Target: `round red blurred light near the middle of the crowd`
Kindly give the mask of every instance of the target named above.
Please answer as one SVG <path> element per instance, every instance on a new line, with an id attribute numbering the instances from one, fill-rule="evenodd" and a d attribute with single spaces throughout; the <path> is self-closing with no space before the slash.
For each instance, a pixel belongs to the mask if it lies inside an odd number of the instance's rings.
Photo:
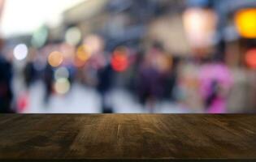
<path id="1" fill-rule="evenodd" d="M 128 69 L 127 49 L 120 47 L 115 49 L 111 59 L 111 66 L 115 71 L 124 72 Z"/>

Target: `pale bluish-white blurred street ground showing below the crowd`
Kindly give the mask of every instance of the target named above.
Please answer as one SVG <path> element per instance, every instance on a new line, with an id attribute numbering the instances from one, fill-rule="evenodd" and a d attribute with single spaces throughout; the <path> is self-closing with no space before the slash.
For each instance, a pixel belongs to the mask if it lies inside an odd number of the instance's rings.
<path id="1" fill-rule="evenodd" d="M 67 96 L 53 96 L 49 104 L 42 102 L 44 95 L 43 83 L 35 83 L 29 91 L 28 108 L 22 113 L 101 113 L 100 96 L 93 88 L 75 83 Z M 115 113 L 149 113 L 137 102 L 132 94 L 124 89 L 113 90 L 110 102 Z M 190 113 L 189 109 L 180 108 L 171 102 L 158 104 L 154 113 Z M 199 112 L 198 112 L 199 113 Z"/>

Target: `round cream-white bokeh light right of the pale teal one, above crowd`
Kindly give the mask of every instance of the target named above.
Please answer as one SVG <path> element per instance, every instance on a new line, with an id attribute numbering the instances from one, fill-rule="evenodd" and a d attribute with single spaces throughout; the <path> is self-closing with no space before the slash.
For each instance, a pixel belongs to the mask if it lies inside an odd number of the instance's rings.
<path id="1" fill-rule="evenodd" d="M 79 28 L 72 27 L 67 29 L 65 40 L 69 45 L 78 45 L 82 38 Z"/>

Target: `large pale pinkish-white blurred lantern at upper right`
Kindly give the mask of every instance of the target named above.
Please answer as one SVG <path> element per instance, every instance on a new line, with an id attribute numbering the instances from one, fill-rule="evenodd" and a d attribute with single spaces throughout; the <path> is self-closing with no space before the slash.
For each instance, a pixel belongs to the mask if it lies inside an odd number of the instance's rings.
<path id="1" fill-rule="evenodd" d="M 183 15 L 184 30 L 192 47 L 202 48 L 212 44 L 217 26 L 215 11 L 189 8 Z"/>

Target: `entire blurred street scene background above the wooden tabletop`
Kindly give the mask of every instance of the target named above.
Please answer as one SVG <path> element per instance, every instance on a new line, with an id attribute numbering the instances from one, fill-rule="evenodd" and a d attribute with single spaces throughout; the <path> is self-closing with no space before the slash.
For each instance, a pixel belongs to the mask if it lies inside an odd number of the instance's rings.
<path id="1" fill-rule="evenodd" d="M 256 113 L 256 0 L 0 0 L 1 113 Z"/>

